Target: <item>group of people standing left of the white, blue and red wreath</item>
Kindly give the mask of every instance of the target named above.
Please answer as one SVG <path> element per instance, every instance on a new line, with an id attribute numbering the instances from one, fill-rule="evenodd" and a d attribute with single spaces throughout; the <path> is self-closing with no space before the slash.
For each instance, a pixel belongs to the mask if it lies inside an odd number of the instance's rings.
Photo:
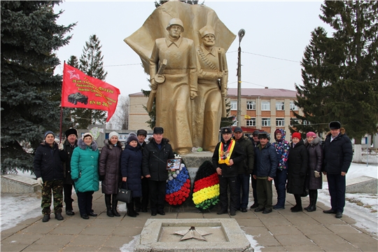
<path id="1" fill-rule="evenodd" d="M 151 214 L 164 215 L 167 170 L 166 164 L 161 163 L 174 158 L 174 154 L 169 140 L 164 139 L 162 134 L 162 127 L 155 127 L 153 138 L 146 144 L 146 130 L 138 130 L 137 134 L 132 132 L 123 150 L 119 134 L 111 132 L 100 153 L 89 132 L 78 139 L 78 132 L 71 128 L 65 132 L 66 140 L 60 144 L 55 141 L 53 132 L 45 132 L 44 141 L 36 149 L 34 157 L 34 172 L 42 187 L 42 221 L 50 220 L 52 197 L 58 221 L 64 219 L 63 195 L 66 215 L 75 214 L 71 197 L 73 188 L 78 197 L 81 218 L 97 216 L 92 209 L 92 195 L 99 190 L 99 181 L 102 181 L 107 216 L 120 216 L 117 210 L 119 188 L 132 191 L 132 200 L 127 203 L 127 216 L 136 217 L 139 211 L 147 212 L 149 199 Z"/>

